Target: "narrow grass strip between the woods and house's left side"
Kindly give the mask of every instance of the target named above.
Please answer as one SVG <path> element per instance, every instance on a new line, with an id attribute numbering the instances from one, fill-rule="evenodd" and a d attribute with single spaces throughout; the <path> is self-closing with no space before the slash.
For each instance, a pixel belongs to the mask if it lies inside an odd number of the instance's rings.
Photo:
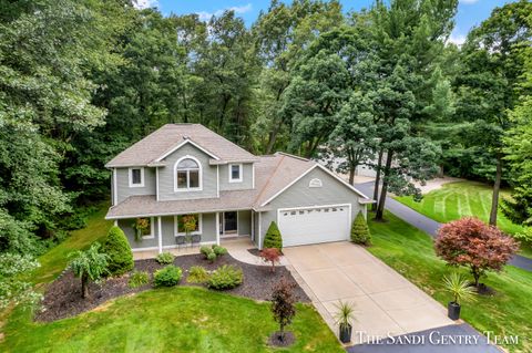
<path id="1" fill-rule="evenodd" d="M 88 248 L 93 241 L 105 237 L 113 225 L 104 219 L 108 209 L 109 203 L 98 205 L 98 210 L 89 216 L 85 228 L 72 231 L 63 242 L 42 255 L 39 258 L 41 267 L 30 274 L 30 281 L 35 284 L 52 281 L 66 267 L 70 252 Z"/>

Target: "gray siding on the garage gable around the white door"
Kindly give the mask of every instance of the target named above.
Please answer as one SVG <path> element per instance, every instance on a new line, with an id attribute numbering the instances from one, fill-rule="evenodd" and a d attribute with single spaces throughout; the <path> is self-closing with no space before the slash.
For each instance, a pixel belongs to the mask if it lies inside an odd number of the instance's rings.
<path id="1" fill-rule="evenodd" d="M 314 178 L 319 178 L 323 186 L 308 187 L 308 183 Z M 267 205 L 272 210 L 262 212 L 262 239 L 264 240 L 269 224 L 272 221 L 277 222 L 277 210 L 279 208 L 350 204 L 352 220 L 359 211 L 362 211 L 366 216 L 366 206 L 360 205 L 358 199 L 359 196 L 355 191 L 349 190 L 347 186 L 324 170 L 315 168 Z"/>

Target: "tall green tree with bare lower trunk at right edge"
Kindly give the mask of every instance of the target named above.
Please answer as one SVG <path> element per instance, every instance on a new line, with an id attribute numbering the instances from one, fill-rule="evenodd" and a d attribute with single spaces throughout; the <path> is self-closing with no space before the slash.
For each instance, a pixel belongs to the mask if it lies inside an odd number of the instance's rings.
<path id="1" fill-rule="evenodd" d="M 530 45 L 532 28 L 530 1 L 518 1 L 497 8 L 491 17 L 473 29 L 462 49 L 463 72 L 458 76 L 457 114 L 477 122 L 482 129 L 479 145 L 490 152 L 488 165 L 493 180 L 490 225 L 497 225 L 499 191 L 503 177 L 504 150 L 502 137 L 511 127 L 509 111 L 514 108 L 523 80 L 522 49 Z M 481 136 L 481 135 L 479 135 Z"/>

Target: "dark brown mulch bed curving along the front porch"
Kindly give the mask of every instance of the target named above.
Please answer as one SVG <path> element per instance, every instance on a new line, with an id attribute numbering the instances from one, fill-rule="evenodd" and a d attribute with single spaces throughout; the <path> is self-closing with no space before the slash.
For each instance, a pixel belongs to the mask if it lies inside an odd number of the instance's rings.
<path id="1" fill-rule="evenodd" d="M 201 285 L 197 283 L 187 283 L 188 269 L 192 266 L 202 266 L 208 271 L 215 270 L 222 264 L 235 264 L 242 268 L 244 272 L 244 282 L 235 289 L 224 291 L 225 293 L 246 297 L 259 301 L 269 300 L 272 289 L 282 277 L 295 284 L 294 295 L 297 301 L 310 302 L 307 294 L 297 284 L 290 272 L 285 267 L 276 267 L 275 273 L 270 272 L 270 267 L 254 266 L 235 260 L 229 255 L 216 259 L 214 263 L 208 262 L 203 255 L 187 255 L 176 257 L 174 264 L 183 269 L 183 278 L 178 285 Z M 150 274 L 163 268 L 155 259 L 135 261 L 135 270 L 147 271 Z M 92 310 L 105 301 L 152 289 L 151 284 L 132 289 L 127 285 L 129 273 L 110 278 L 100 284 L 91 283 L 89 287 L 89 298 L 81 298 L 81 281 L 74 278 L 72 271 L 65 271 L 60 278 L 50 283 L 44 293 L 42 309 L 37 313 L 35 320 L 50 322 L 64 319 Z M 151 276 L 152 277 L 152 276 Z"/>

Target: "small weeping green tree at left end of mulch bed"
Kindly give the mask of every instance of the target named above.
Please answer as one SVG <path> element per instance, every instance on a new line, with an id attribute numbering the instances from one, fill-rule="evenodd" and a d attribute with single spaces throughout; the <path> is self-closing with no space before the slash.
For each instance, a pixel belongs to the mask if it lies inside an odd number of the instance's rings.
<path id="1" fill-rule="evenodd" d="M 100 243 L 93 243 L 89 250 L 78 250 L 70 255 L 70 268 L 81 278 L 81 298 L 89 297 L 89 281 L 98 281 L 106 272 L 108 256 L 100 252 Z"/>

